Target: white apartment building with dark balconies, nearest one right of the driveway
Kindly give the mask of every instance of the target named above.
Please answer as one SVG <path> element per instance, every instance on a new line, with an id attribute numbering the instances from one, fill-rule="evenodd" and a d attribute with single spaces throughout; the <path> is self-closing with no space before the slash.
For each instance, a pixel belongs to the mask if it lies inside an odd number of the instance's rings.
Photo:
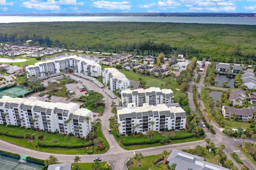
<path id="1" fill-rule="evenodd" d="M 117 110 L 119 131 L 121 134 L 134 132 L 133 126 L 140 125 L 138 132 L 145 133 L 153 129 L 154 131 L 165 131 L 168 129 L 182 129 L 186 127 L 186 113 L 181 107 L 167 107 L 165 104 L 135 107 L 130 103 L 128 107 Z M 154 125 L 150 122 L 154 121 Z M 137 131 L 137 128 L 135 129 Z"/>

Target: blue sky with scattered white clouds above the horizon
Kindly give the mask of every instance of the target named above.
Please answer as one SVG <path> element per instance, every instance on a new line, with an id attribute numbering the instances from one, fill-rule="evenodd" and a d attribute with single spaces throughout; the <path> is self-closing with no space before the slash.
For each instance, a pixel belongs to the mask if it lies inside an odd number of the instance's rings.
<path id="1" fill-rule="evenodd" d="M 77 12 L 254 13 L 256 0 L 0 0 L 1 14 Z"/>

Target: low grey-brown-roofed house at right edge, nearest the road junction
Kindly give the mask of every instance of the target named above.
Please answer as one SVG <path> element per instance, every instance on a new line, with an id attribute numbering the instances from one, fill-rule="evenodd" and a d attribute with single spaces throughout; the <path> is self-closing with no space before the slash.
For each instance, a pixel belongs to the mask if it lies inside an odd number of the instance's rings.
<path id="1" fill-rule="evenodd" d="M 222 106 L 222 114 L 225 119 L 234 119 L 232 115 L 241 121 L 248 121 L 254 118 L 253 112 L 256 112 L 256 107 L 236 109 L 235 107 Z"/>

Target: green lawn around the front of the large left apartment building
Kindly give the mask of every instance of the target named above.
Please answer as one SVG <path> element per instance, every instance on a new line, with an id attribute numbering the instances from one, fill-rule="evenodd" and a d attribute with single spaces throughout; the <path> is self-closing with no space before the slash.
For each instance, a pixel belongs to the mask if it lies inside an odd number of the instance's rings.
<path id="1" fill-rule="evenodd" d="M 43 141 L 49 141 L 51 142 L 52 139 L 58 139 L 59 143 L 72 143 L 72 144 L 78 144 L 78 143 L 87 143 L 88 139 L 78 139 L 77 137 L 68 137 L 64 136 L 63 134 L 50 134 L 50 133 L 45 133 L 45 132 L 38 132 L 38 131 L 33 131 L 33 130 L 26 130 L 22 129 L 20 127 L 6 127 L 6 126 L 0 126 L 2 130 L 9 131 L 12 133 L 17 133 L 17 134 L 25 134 L 25 133 L 36 133 L 36 137 L 38 135 L 42 134 L 44 135 Z M 100 130 L 100 127 L 96 129 L 96 135 L 98 137 L 102 137 L 105 140 L 106 147 L 109 149 L 108 142 L 102 135 L 102 132 Z M 84 148 L 78 148 L 78 149 L 66 149 L 66 148 L 44 148 L 44 147 L 35 147 L 36 146 L 36 140 L 33 142 L 28 143 L 28 139 L 17 139 L 13 137 L 8 137 L 8 136 L 0 136 L 0 139 L 3 141 L 6 141 L 8 143 L 12 143 L 14 145 L 18 145 L 24 148 L 32 149 L 32 150 L 38 150 L 41 152 L 48 152 L 48 153 L 58 153 L 58 154 L 86 154 L 86 150 Z M 102 150 L 99 152 L 94 152 L 93 154 L 103 154 L 107 150 Z"/>

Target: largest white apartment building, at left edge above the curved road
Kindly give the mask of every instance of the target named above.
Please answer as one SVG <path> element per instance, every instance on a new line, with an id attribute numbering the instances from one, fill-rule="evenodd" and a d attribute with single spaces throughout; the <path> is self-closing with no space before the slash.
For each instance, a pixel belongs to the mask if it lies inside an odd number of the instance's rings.
<path id="1" fill-rule="evenodd" d="M 50 103 L 39 101 L 36 97 L 0 99 L 0 123 L 39 128 L 44 131 L 73 133 L 86 137 L 89 133 L 84 117 L 92 117 L 92 111 L 81 108 L 75 103 Z M 36 116 L 36 117 L 35 117 Z M 70 121 L 67 123 L 67 121 Z M 80 129 L 81 127 L 81 129 Z M 91 125 L 89 122 L 91 130 Z"/>

